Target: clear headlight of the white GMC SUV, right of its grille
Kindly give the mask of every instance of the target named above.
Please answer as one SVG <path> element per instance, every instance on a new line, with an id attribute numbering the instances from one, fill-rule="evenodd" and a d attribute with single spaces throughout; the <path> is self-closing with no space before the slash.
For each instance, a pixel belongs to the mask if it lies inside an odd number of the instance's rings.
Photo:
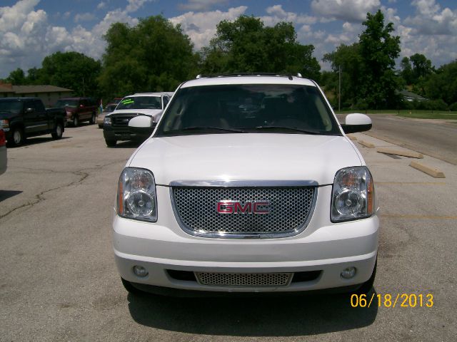
<path id="1" fill-rule="evenodd" d="M 336 172 L 331 197 L 331 222 L 370 217 L 374 213 L 373 177 L 365 166 Z"/>

